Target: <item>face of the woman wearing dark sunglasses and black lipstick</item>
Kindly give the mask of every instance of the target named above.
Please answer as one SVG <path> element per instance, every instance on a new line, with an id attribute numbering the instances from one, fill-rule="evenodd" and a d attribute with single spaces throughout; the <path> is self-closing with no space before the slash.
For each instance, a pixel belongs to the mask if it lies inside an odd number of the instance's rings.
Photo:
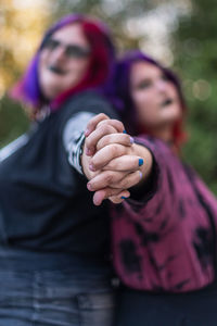
<path id="1" fill-rule="evenodd" d="M 90 46 L 76 23 L 56 30 L 44 43 L 39 58 L 39 84 L 52 100 L 76 86 L 87 73 Z"/>

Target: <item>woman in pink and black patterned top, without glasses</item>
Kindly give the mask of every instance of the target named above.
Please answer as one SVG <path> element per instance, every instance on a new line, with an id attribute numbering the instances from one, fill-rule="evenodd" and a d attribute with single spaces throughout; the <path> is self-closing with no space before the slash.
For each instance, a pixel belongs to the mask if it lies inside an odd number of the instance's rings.
<path id="1" fill-rule="evenodd" d="M 144 161 L 140 187 L 113 209 L 114 265 L 123 285 L 115 326 L 214 326 L 217 200 L 180 158 L 187 110 L 180 84 L 140 51 L 119 61 L 114 80 L 126 130 L 138 136 L 137 154 Z M 95 126 L 91 121 L 88 128 Z M 106 137 L 97 143 L 100 151 Z M 108 137 L 116 163 L 124 152 L 135 154 L 136 143 L 124 149 L 119 133 Z M 100 151 L 90 160 L 95 170 L 103 168 Z M 119 171 L 128 162 L 129 156 Z M 93 191 L 100 177 L 89 181 Z"/>

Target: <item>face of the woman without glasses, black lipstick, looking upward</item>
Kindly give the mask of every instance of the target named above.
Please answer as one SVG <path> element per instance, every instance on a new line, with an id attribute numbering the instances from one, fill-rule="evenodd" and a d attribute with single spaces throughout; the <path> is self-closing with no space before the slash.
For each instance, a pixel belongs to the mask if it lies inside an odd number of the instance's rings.
<path id="1" fill-rule="evenodd" d="M 148 130 L 173 126 L 181 116 L 181 105 L 175 85 L 161 68 L 148 62 L 132 65 L 131 98 L 138 121 Z"/>

